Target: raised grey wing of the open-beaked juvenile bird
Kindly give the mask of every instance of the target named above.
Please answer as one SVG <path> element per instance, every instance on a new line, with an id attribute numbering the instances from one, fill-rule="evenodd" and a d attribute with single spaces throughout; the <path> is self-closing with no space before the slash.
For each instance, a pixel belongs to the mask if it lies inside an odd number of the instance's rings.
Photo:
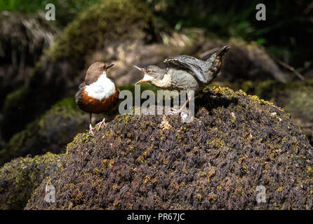
<path id="1" fill-rule="evenodd" d="M 197 64 L 201 64 L 201 61 L 195 57 L 188 55 L 179 55 L 177 57 L 168 57 L 164 60 L 164 64 L 167 67 L 175 69 L 184 69 L 190 71 L 190 73 L 196 77 L 201 83 L 206 83 L 207 78 L 204 76 L 204 71 Z"/>

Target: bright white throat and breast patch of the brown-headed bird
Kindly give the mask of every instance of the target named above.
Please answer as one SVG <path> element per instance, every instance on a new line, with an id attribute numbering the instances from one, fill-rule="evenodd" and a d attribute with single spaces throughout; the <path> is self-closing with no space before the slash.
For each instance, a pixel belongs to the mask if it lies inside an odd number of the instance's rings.
<path id="1" fill-rule="evenodd" d="M 95 83 L 85 87 L 85 92 L 89 97 L 98 100 L 107 99 L 115 92 L 115 85 L 112 80 L 107 78 L 107 73 L 103 71 L 102 75 Z"/>

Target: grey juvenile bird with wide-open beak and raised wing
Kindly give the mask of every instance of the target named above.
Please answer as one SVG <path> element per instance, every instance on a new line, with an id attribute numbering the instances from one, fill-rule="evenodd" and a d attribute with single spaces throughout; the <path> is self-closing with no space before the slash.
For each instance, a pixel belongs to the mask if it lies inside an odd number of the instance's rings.
<path id="1" fill-rule="evenodd" d="M 199 94 L 220 72 L 225 52 L 228 49 L 229 46 L 225 45 L 206 61 L 188 55 L 168 57 L 164 60 L 165 69 L 155 65 L 149 65 L 145 68 L 135 66 L 144 74 L 144 77 L 135 85 L 149 82 L 164 90 L 186 90 L 187 93 L 193 90 Z M 176 112 L 181 113 L 190 100 L 191 98 L 188 98 L 182 108 Z"/>

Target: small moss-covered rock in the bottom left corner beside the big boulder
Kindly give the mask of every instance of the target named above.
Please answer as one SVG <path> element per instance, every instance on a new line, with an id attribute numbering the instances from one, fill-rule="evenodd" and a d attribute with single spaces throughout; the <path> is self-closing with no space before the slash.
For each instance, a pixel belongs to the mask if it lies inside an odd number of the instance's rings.
<path id="1" fill-rule="evenodd" d="M 46 153 L 18 158 L 1 167 L 0 209 L 24 209 L 34 190 L 60 167 L 64 157 Z"/>

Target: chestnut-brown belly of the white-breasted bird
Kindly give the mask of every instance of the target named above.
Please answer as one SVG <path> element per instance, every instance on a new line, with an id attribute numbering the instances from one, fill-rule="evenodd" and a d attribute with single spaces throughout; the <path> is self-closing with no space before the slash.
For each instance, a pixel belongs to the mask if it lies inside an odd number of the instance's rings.
<path id="1" fill-rule="evenodd" d="M 90 97 L 84 89 L 81 90 L 81 99 L 79 100 L 79 108 L 87 113 L 103 113 L 109 111 L 119 103 L 119 90 L 115 87 L 114 94 L 108 98 L 99 100 Z"/>

